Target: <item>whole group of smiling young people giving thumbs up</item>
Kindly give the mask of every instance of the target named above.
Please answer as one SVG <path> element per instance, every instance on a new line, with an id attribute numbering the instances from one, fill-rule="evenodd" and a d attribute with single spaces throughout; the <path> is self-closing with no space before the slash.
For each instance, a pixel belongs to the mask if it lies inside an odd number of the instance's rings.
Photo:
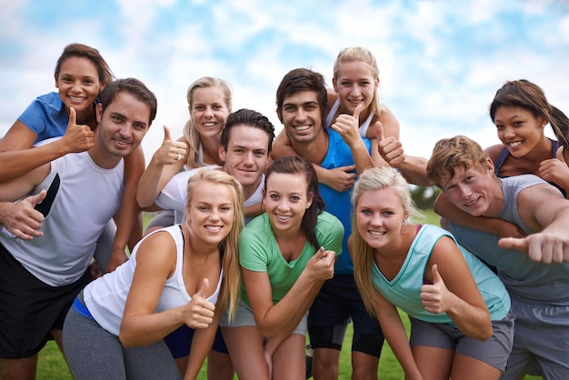
<path id="1" fill-rule="evenodd" d="M 502 144 L 458 135 L 427 160 L 363 47 L 332 88 L 284 75 L 276 137 L 206 76 L 148 165 L 142 82 L 73 44 L 55 85 L 0 141 L 0 379 L 34 378 L 49 339 L 76 379 L 190 379 L 206 357 L 212 379 L 302 379 L 306 333 L 310 375 L 337 379 L 349 323 L 354 379 L 377 378 L 384 339 L 409 379 L 569 375 L 569 119 L 537 85 L 496 93 Z M 445 229 L 412 220 L 409 183 L 441 188 Z"/>

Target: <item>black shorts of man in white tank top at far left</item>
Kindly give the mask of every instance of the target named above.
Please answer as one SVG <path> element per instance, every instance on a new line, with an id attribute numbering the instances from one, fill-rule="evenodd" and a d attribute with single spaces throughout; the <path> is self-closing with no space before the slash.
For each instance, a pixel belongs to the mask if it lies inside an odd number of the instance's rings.
<path id="1" fill-rule="evenodd" d="M 91 281 L 89 271 L 75 283 L 51 286 L 29 273 L 0 245 L 0 358 L 37 354 L 62 330 L 75 296 Z"/>

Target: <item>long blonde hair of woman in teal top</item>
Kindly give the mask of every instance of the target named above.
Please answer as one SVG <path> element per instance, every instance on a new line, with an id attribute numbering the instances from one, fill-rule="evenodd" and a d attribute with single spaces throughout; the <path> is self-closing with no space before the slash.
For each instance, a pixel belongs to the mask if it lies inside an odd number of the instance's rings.
<path id="1" fill-rule="evenodd" d="M 354 184 L 352 192 L 352 261 L 354 263 L 355 285 L 362 295 L 365 309 L 369 315 L 374 315 L 374 297 L 377 290 L 372 281 L 372 263 L 374 263 L 374 248 L 368 245 L 357 229 L 356 207 L 360 197 L 366 191 L 381 190 L 390 188 L 397 195 L 404 212 L 409 216 L 422 217 L 414 205 L 409 185 L 403 175 L 399 174 L 391 167 L 372 167 L 364 170 Z M 404 223 L 410 223 L 409 218 Z"/>

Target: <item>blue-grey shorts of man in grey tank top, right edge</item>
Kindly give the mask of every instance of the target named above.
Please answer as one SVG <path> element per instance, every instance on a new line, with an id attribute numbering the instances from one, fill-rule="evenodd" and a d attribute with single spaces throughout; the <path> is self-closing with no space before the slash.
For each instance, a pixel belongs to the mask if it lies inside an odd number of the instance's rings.
<path id="1" fill-rule="evenodd" d="M 535 305 L 512 297 L 514 347 L 502 379 L 569 379 L 569 305 Z"/>

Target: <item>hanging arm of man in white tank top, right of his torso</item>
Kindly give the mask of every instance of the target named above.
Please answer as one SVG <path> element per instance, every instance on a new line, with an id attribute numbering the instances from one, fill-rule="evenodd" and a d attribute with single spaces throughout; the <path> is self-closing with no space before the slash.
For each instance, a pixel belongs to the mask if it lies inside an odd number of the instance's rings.
<path id="1" fill-rule="evenodd" d="M 130 155 L 125 157 L 125 190 L 121 207 L 115 215 L 116 233 L 113 241 L 112 252 L 106 267 L 107 272 L 113 272 L 118 265 L 125 263 L 125 247 L 132 242 L 138 242 L 142 238 L 142 226 L 140 220 L 140 208 L 136 203 L 136 189 L 138 180 L 145 171 L 145 154 L 142 146 L 138 146 Z M 135 226 L 138 226 L 135 229 Z M 132 250 L 134 245 L 130 246 Z M 131 251 L 132 252 L 132 251 Z"/>

